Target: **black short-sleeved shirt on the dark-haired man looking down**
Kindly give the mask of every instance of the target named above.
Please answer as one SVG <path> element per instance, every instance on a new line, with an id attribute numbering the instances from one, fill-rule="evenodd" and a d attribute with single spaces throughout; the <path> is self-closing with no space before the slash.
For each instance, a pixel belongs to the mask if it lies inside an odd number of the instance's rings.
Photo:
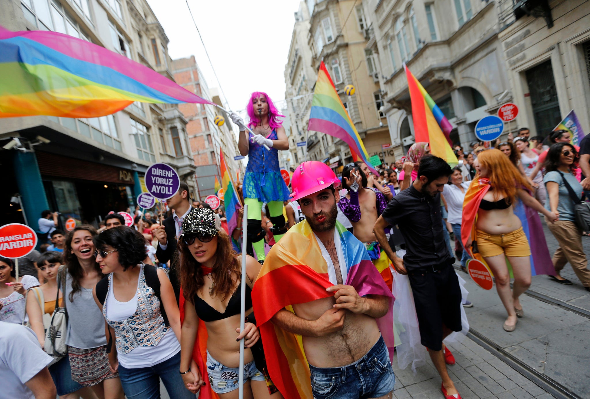
<path id="1" fill-rule="evenodd" d="M 383 210 L 383 219 L 392 226 L 398 225 L 404 236 L 407 250 L 404 265 L 408 271 L 441 265 L 451 259 L 444 242 L 440 204 L 440 193 L 431 197 L 412 184 Z"/>

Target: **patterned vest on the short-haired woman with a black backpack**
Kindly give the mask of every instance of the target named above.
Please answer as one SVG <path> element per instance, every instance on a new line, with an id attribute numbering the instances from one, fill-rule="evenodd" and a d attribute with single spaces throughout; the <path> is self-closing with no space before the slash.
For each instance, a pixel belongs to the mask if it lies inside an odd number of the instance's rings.
<path id="1" fill-rule="evenodd" d="M 112 289 L 113 278 L 113 273 L 109 274 L 109 290 L 103 304 L 103 316 L 109 327 L 114 329 L 117 352 L 122 354 L 127 354 L 137 347 L 155 347 L 168 332 L 168 327 L 160 313 L 160 299 L 146 283 L 143 266 L 140 267 L 137 309 L 132 316 L 120 321 L 107 318 L 107 299 Z"/>

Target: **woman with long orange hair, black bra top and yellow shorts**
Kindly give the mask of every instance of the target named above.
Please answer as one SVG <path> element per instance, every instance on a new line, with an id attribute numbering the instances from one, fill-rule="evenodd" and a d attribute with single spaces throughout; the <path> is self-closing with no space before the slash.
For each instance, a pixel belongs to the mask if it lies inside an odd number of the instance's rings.
<path id="1" fill-rule="evenodd" d="M 474 258 L 490 266 L 508 313 L 503 328 L 510 332 L 517 317 L 525 315 L 519 297 L 529 289 L 531 276 L 555 275 L 537 212 L 549 222 L 558 217 L 530 196 L 529 182 L 500 150 L 481 151 L 475 166 L 476 177 L 465 194 L 461 240 Z"/>

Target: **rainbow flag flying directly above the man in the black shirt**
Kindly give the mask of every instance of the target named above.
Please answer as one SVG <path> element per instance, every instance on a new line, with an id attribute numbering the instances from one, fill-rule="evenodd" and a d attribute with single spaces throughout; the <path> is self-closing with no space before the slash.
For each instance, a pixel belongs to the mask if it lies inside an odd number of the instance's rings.
<path id="1" fill-rule="evenodd" d="M 441 157 L 451 165 L 456 165 L 458 161 L 451 149 L 453 143 L 449 136 L 453 126 L 405 64 L 404 69 L 412 101 L 412 120 L 414 120 L 416 142 L 430 143 L 432 155 Z"/>

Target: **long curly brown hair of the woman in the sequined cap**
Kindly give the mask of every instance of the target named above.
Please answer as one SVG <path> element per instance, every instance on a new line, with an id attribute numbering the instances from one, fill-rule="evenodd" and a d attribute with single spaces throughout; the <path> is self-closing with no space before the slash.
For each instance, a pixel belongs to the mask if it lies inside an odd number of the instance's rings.
<path id="1" fill-rule="evenodd" d="M 180 266 L 181 286 L 186 301 L 193 303 L 196 292 L 205 285 L 205 278 L 201 263 L 192 256 L 190 245 L 178 240 L 178 265 Z M 224 301 L 233 294 L 234 285 L 242 277 L 238 254 L 231 246 L 230 236 L 224 230 L 217 232 L 217 251 L 211 278 L 215 282 L 211 289 L 211 296 L 221 295 Z"/>

